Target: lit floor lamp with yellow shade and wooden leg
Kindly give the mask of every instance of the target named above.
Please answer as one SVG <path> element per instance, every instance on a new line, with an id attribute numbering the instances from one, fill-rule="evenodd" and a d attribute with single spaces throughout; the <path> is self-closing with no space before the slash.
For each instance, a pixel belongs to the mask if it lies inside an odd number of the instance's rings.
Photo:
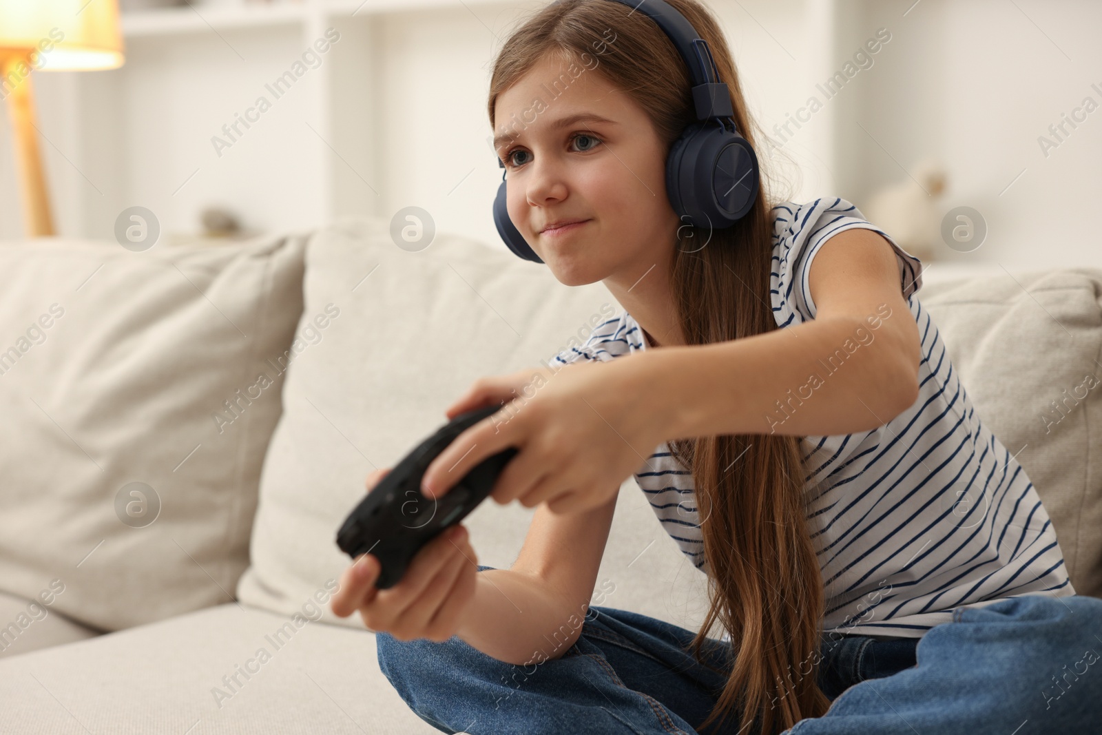
<path id="1" fill-rule="evenodd" d="M 0 99 L 11 118 L 28 237 L 54 234 L 32 73 L 121 65 L 118 0 L 0 0 Z"/>

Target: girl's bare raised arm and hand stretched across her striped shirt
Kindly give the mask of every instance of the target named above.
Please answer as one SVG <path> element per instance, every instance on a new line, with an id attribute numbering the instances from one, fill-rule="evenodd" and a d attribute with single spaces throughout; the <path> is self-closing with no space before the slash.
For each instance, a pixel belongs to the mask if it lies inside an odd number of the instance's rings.
<path id="1" fill-rule="evenodd" d="M 820 246 L 808 278 L 815 318 L 804 324 L 475 381 L 451 415 L 509 404 L 449 444 L 429 464 L 422 491 L 440 497 L 515 446 L 494 499 L 576 512 L 605 502 L 670 440 L 886 424 L 917 400 L 921 353 L 890 244 L 872 230 L 843 230 Z"/>

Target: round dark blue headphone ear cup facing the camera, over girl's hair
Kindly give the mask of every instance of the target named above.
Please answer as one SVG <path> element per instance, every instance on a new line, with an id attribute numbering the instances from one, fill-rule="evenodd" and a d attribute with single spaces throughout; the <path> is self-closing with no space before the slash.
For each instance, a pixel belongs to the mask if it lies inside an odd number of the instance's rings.
<path id="1" fill-rule="evenodd" d="M 757 199 L 758 179 L 749 142 L 714 120 L 685 128 L 666 160 L 670 205 L 696 227 L 724 229 L 742 219 Z"/>

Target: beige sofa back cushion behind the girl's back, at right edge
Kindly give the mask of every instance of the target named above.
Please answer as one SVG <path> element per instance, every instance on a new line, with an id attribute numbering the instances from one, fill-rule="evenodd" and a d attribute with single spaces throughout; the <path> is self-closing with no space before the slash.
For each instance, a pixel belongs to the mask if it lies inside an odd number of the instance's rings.
<path id="1" fill-rule="evenodd" d="M 1037 488 L 1071 585 L 1094 597 L 1102 597 L 1100 296 L 1102 270 L 1087 268 L 998 269 L 919 294 L 976 413 Z"/>

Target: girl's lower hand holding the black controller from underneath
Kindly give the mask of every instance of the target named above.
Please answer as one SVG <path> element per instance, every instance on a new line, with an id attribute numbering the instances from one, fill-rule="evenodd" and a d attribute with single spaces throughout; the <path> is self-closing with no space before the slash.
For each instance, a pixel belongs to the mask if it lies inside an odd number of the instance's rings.
<path id="1" fill-rule="evenodd" d="M 389 471 L 367 478 L 370 490 Z M 341 575 L 341 587 L 329 607 L 339 617 L 359 610 L 364 625 L 399 640 L 428 638 L 442 642 L 458 630 L 461 618 L 474 599 L 478 558 L 462 525 L 452 526 L 426 543 L 401 581 L 377 590 L 381 566 L 371 554 L 360 554 Z"/>

